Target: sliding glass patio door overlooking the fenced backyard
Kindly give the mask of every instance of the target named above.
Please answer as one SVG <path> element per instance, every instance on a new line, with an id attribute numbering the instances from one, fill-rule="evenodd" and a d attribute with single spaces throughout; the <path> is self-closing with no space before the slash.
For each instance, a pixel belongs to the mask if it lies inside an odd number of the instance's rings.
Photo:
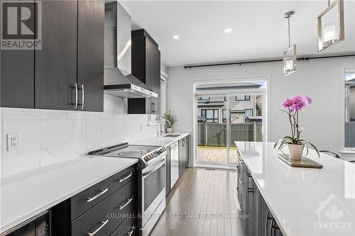
<path id="1" fill-rule="evenodd" d="M 235 141 L 266 140 L 264 91 L 196 96 L 197 164 L 235 165 Z"/>

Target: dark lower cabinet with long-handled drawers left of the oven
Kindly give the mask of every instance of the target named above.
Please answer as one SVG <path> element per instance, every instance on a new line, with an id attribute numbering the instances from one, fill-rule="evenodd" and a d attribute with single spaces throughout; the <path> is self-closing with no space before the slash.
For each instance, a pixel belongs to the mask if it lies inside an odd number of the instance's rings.
<path id="1" fill-rule="evenodd" d="M 136 165 L 54 206 L 53 236 L 135 235 L 138 183 L 132 168 Z"/>

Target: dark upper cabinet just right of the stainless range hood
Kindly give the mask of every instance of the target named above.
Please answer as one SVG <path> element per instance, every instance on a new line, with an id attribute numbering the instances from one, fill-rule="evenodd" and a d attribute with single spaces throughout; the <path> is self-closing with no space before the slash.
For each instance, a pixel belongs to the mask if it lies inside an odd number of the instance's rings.
<path id="1" fill-rule="evenodd" d="M 128 99 L 129 114 L 160 114 L 160 51 L 146 30 L 131 33 L 132 74 L 158 94 L 158 98 Z"/>

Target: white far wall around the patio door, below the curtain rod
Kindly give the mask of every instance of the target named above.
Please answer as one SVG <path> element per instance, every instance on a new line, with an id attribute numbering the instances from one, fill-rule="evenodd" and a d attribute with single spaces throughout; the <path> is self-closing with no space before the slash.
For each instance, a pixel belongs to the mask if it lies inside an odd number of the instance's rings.
<path id="1" fill-rule="evenodd" d="M 340 106 L 344 102 L 341 99 L 343 67 L 355 68 L 355 57 L 298 62 L 297 72 L 287 77 L 283 76 L 282 62 L 196 69 L 169 67 L 168 110 L 177 115 L 176 132 L 192 133 L 194 80 L 269 77 L 268 128 L 271 141 L 289 134 L 285 114 L 278 110 L 280 104 L 286 97 L 302 94 L 313 99 L 312 106 L 305 108 L 300 116 L 300 123 L 305 128 L 302 137 L 320 149 L 339 152 L 339 139 L 342 137 Z"/>

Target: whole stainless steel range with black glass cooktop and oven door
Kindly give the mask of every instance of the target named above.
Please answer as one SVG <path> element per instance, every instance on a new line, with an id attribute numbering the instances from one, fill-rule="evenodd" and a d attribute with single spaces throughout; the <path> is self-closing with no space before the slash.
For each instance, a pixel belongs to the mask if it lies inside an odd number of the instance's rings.
<path id="1" fill-rule="evenodd" d="M 166 148 L 124 142 L 89 154 L 138 159 L 138 232 L 148 236 L 165 209 Z"/>

